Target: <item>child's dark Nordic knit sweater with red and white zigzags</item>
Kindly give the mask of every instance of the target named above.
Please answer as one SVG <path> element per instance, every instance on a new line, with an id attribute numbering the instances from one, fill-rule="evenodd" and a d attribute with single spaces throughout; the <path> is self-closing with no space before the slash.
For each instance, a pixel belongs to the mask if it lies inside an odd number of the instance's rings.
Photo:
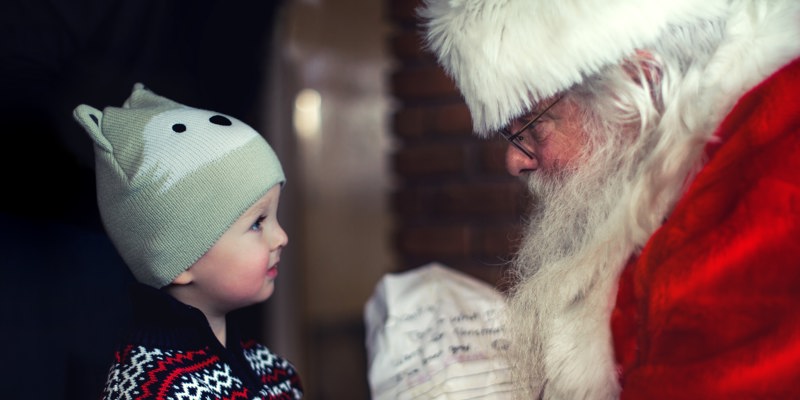
<path id="1" fill-rule="evenodd" d="M 230 319 L 223 347 L 200 310 L 143 284 L 132 301 L 133 329 L 116 351 L 104 400 L 302 398 L 294 367 L 242 340 Z"/>

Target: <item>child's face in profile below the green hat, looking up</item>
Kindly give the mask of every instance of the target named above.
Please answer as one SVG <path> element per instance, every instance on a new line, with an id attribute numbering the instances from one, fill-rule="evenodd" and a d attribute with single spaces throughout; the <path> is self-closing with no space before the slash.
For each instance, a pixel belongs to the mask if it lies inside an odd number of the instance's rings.
<path id="1" fill-rule="evenodd" d="M 288 243 L 276 217 L 280 191 L 280 185 L 272 187 L 179 276 L 191 279 L 190 299 L 184 301 L 206 314 L 225 314 L 272 295 Z"/>

